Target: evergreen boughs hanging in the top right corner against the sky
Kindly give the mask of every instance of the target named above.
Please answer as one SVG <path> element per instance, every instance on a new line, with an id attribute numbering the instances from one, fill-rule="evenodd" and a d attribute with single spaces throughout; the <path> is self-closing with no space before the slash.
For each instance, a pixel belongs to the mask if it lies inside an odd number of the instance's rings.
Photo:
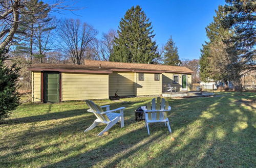
<path id="1" fill-rule="evenodd" d="M 255 0 L 226 0 L 224 6 L 226 17 L 223 25 L 228 29 L 234 28 L 235 36 L 232 41 L 240 51 L 240 59 L 246 62 L 246 69 L 255 69 L 256 65 L 256 3 Z"/>

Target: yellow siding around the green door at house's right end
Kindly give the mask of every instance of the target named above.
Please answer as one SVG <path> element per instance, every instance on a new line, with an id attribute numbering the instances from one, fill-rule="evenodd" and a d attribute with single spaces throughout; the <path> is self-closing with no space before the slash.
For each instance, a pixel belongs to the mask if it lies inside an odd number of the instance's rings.
<path id="1" fill-rule="evenodd" d="M 179 83 L 173 83 L 173 75 L 179 75 Z M 183 74 L 184 75 L 184 74 Z M 191 86 L 191 74 L 185 74 L 187 75 L 187 89 L 190 91 Z M 172 85 L 172 87 L 176 87 L 177 91 L 181 91 L 182 88 L 182 74 L 178 73 L 163 73 L 162 74 L 162 85 L 163 85 L 163 92 L 166 91 L 166 88 L 164 85 Z"/>

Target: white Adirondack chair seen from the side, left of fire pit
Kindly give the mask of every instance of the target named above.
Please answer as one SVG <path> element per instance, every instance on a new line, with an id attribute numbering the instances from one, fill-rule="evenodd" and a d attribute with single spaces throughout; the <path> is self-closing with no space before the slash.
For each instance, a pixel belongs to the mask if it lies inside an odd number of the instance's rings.
<path id="1" fill-rule="evenodd" d="M 110 105 L 104 105 L 104 106 L 98 106 L 93 101 L 86 100 L 86 104 L 89 106 L 90 109 L 88 109 L 88 112 L 93 113 L 97 119 L 94 121 L 94 123 L 87 128 L 84 132 L 90 131 L 93 128 L 95 128 L 99 123 L 107 124 L 106 127 L 98 134 L 98 136 L 101 136 L 104 132 L 108 131 L 112 126 L 114 126 L 118 121 L 121 122 L 121 127 L 124 126 L 124 120 L 123 120 L 123 109 L 125 107 L 119 107 L 116 109 L 110 110 Z M 102 108 L 105 107 L 106 111 L 104 111 Z M 112 113 L 114 111 L 120 110 L 119 113 Z"/>

